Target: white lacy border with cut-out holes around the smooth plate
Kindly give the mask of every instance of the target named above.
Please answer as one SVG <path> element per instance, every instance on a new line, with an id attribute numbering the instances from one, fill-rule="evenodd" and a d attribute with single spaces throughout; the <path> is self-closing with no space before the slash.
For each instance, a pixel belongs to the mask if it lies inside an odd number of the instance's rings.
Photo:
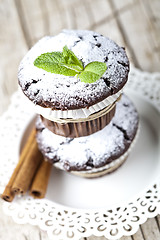
<path id="1" fill-rule="evenodd" d="M 160 112 L 160 73 L 149 74 L 132 67 L 127 88 L 143 96 Z M 0 118 L 0 193 L 17 164 L 17 146 L 24 126 L 33 115 L 24 104 L 25 98 L 16 92 L 8 111 Z M 12 203 L 4 202 L 3 209 L 15 222 L 38 225 L 53 239 L 80 239 L 91 235 L 118 239 L 134 234 L 147 218 L 160 213 L 160 179 L 137 199 L 109 209 L 81 210 L 29 196 L 17 197 Z"/>

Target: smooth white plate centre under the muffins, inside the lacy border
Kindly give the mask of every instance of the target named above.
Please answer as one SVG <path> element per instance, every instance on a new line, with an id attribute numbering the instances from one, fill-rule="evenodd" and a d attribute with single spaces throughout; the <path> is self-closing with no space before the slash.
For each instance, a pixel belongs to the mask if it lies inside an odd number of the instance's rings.
<path id="1" fill-rule="evenodd" d="M 139 138 L 127 161 L 112 174 L 95 179 L 53 169 L 47 199 L 75 208 L 110 208 L 130 201 L 159 176 L 160 116 L 151 104 L 130 91 L 126 93 L 140 115 Z"/>

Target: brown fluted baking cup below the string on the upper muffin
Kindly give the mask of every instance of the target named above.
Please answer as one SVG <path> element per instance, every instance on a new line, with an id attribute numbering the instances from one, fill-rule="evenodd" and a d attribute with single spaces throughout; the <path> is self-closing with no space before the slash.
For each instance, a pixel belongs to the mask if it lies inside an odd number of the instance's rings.
<path id="1" fill-rule="evenodd" d="M 79 122 L 58 123 L 41 116 L 42 122 L 51 132 L 69 138 L 88 136 L 110 123 L 115 114 L 116 105 L 113 104 L 106 114 L 91 120 Z"/>

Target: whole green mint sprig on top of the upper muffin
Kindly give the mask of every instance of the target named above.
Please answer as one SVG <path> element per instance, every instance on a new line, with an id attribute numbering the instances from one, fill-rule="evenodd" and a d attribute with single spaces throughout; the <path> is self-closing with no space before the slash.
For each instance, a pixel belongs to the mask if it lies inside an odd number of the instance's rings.
<path id="1" fill-rule="evenodd" d="M 82 61 L 67 46 L 63 47 L 63 52 L 41 54 L 35 59 L 34 65 L 55 74 L 65 76 L 77 75 L 85 83 L 97 81 L 107 70 L 106 64 L 98 61 L 91 62 L 84 68 Z"/>

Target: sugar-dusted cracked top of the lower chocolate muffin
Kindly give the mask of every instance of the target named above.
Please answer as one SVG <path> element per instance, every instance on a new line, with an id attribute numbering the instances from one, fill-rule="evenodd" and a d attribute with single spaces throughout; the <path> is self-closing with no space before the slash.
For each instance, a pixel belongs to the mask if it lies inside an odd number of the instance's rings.
<path id="1" fill-rule="evenodd" d="M 36 128 L 39 149 L 51 163 L 59 162 L 67 171 L 91 170 L 118 159 L 128 150 L 138 129 L 138 113 L 123 95 L 110 124 L 87 137 L 56 135 L 45 128 L 40 117 Z"/>

